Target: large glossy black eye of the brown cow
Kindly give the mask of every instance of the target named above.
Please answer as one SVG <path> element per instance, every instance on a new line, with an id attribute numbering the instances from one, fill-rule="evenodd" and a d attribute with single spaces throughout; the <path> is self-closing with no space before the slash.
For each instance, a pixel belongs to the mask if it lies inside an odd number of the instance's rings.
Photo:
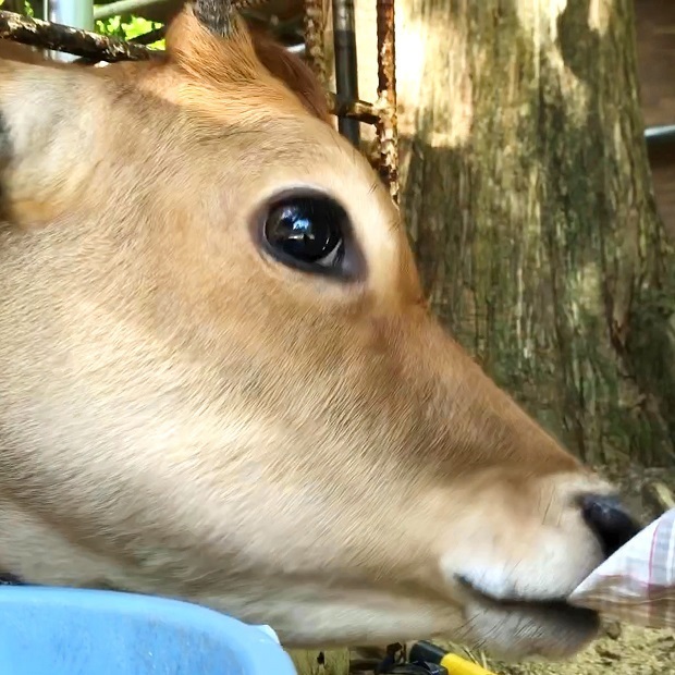
<path id="1" fill-rule="evenodd" d="M 339 272 L 345 257 L 349 219 L 326 196 L 289 196 L 265 216 L 263 235 L 281 262 L 306 271 Z"/>

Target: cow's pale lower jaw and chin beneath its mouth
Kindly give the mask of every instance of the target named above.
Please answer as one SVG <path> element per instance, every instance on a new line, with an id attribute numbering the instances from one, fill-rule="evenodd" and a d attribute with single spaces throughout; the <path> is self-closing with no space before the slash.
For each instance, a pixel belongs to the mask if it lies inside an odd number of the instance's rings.
<path id="1" fill-rule="evenodd" d="M 444 597 L 407 596 L 372 588 L 293 584 L 259 586 L 253 600 L 235 594 L 200 603 L 234 612 L 248 623 L 273 626 L 290 649 L 345 645 L 382 647 L 392 641 L 452 640 L 507 661 L 568 659 L 598 634 L 599 617 L 562 601 L 499 602 L 462 584 Z"/>

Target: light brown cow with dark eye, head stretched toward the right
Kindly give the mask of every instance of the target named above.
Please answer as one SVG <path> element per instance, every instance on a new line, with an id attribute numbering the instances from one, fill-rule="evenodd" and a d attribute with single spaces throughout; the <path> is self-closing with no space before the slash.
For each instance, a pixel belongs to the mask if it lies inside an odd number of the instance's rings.
<path id="1" fill-rule="evenodd" d="M 441 328 L 294 59 L 195 0 L 146 63 L 0 61 L 0 570 L 567 658 L 638 526 Z"/>

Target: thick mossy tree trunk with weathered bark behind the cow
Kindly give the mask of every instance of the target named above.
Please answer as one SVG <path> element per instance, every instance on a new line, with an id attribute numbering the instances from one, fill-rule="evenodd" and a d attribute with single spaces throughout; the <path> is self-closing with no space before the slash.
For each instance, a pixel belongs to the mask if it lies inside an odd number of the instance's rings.
<path id="1" fill-rule="evenodd" d="M 359 57 L 370 5 L 357 0 Z M 396 12 L 402 211 L 435 311 L 585 459 L 673 462 L 675 259 L 631 0 Z M 371 61 L 359 58 L 363 82 Z"/>

